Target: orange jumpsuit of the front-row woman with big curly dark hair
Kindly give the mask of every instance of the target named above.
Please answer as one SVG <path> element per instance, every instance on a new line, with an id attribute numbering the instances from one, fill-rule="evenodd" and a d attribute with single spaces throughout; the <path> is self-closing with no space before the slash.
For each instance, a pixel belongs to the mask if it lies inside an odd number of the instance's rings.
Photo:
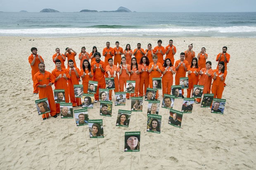
<path id="1" fill-rule="evenodd" d="M 144 69 L 140 73 L 140 89 L 139 89 L 139 97 L 143 96 L 143 85 L 144 85 L 144 93 L 146 95 L 147 88 L 149 87 L 149 66 L 143 65 L 143 63 L 140 65 L 141 70 Z M 146 71 L 147 70 L 147 71 Z"/>

